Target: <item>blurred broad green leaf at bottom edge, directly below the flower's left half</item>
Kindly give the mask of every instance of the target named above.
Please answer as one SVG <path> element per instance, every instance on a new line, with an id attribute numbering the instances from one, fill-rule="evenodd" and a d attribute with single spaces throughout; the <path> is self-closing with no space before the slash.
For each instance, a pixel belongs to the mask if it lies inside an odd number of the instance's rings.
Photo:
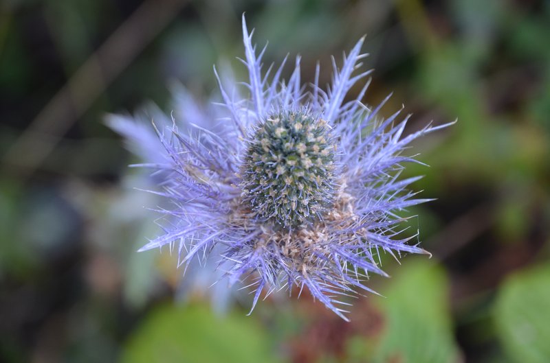
<path id="1" fill-rule="evenodd" d="M 269 337 L 253 318 L 217 316 L 210 307 L 164 305 L 126 344 L 122 363 L 270 363 Z"/>

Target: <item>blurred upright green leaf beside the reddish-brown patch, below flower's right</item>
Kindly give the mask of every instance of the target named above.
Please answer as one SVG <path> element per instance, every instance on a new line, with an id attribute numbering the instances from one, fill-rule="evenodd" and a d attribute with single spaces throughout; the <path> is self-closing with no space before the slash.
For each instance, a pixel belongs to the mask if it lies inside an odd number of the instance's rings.
<path id="1" fill-rule="evenodd" d="M 386 326 L 374 362 L 458 362 L 448 312 L 448 279 L 426 259 L 407 262 L 379 301 Z"/>

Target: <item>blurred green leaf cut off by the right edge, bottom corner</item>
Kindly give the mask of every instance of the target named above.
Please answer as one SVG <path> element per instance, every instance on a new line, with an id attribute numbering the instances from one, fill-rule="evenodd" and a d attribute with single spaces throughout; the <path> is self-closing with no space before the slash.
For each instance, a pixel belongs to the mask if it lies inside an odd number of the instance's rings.
<path id="1" fill-rule="evenodd" d="M 550 357 L 550 265 L 514 274 L 500 288 L 495 323 L 511 358 L 522 363 Z"/>

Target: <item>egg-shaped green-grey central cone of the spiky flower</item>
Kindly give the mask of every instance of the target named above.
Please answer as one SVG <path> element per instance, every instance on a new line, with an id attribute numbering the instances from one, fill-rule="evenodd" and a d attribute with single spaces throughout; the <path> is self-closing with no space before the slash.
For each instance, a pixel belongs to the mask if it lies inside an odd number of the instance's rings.
<path id="1" fill-rule="evenodd" d="M 243 199 L 285 229 L 320 220 L 333 199 L 335 153 L 327 121 L 300 111 L 274 115 L 248 141 Z"/>

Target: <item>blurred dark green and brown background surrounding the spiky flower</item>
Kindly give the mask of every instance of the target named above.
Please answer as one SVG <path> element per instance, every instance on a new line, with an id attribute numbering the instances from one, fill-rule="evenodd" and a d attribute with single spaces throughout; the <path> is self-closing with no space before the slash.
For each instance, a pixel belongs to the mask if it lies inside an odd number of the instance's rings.
<path id="1" fill-rule="evenodd" d="M 328 82 L 367 34 L 365 103 L 393 91 L 408 132 L 459 120 L 408 169 L 438 198 L 410 211 L 432 259 L 384 261 L 351 323 L 307 295 L 246 316 L 135 252 L 155 199 L 104 117 L 170 113 L 178 84 L 207 102 L 214 64 L 245 75 L 243 12 L 266 64 Z M 550 362 L 549 115 L 550 1 L 2 0 L 0 361 Z"/>

